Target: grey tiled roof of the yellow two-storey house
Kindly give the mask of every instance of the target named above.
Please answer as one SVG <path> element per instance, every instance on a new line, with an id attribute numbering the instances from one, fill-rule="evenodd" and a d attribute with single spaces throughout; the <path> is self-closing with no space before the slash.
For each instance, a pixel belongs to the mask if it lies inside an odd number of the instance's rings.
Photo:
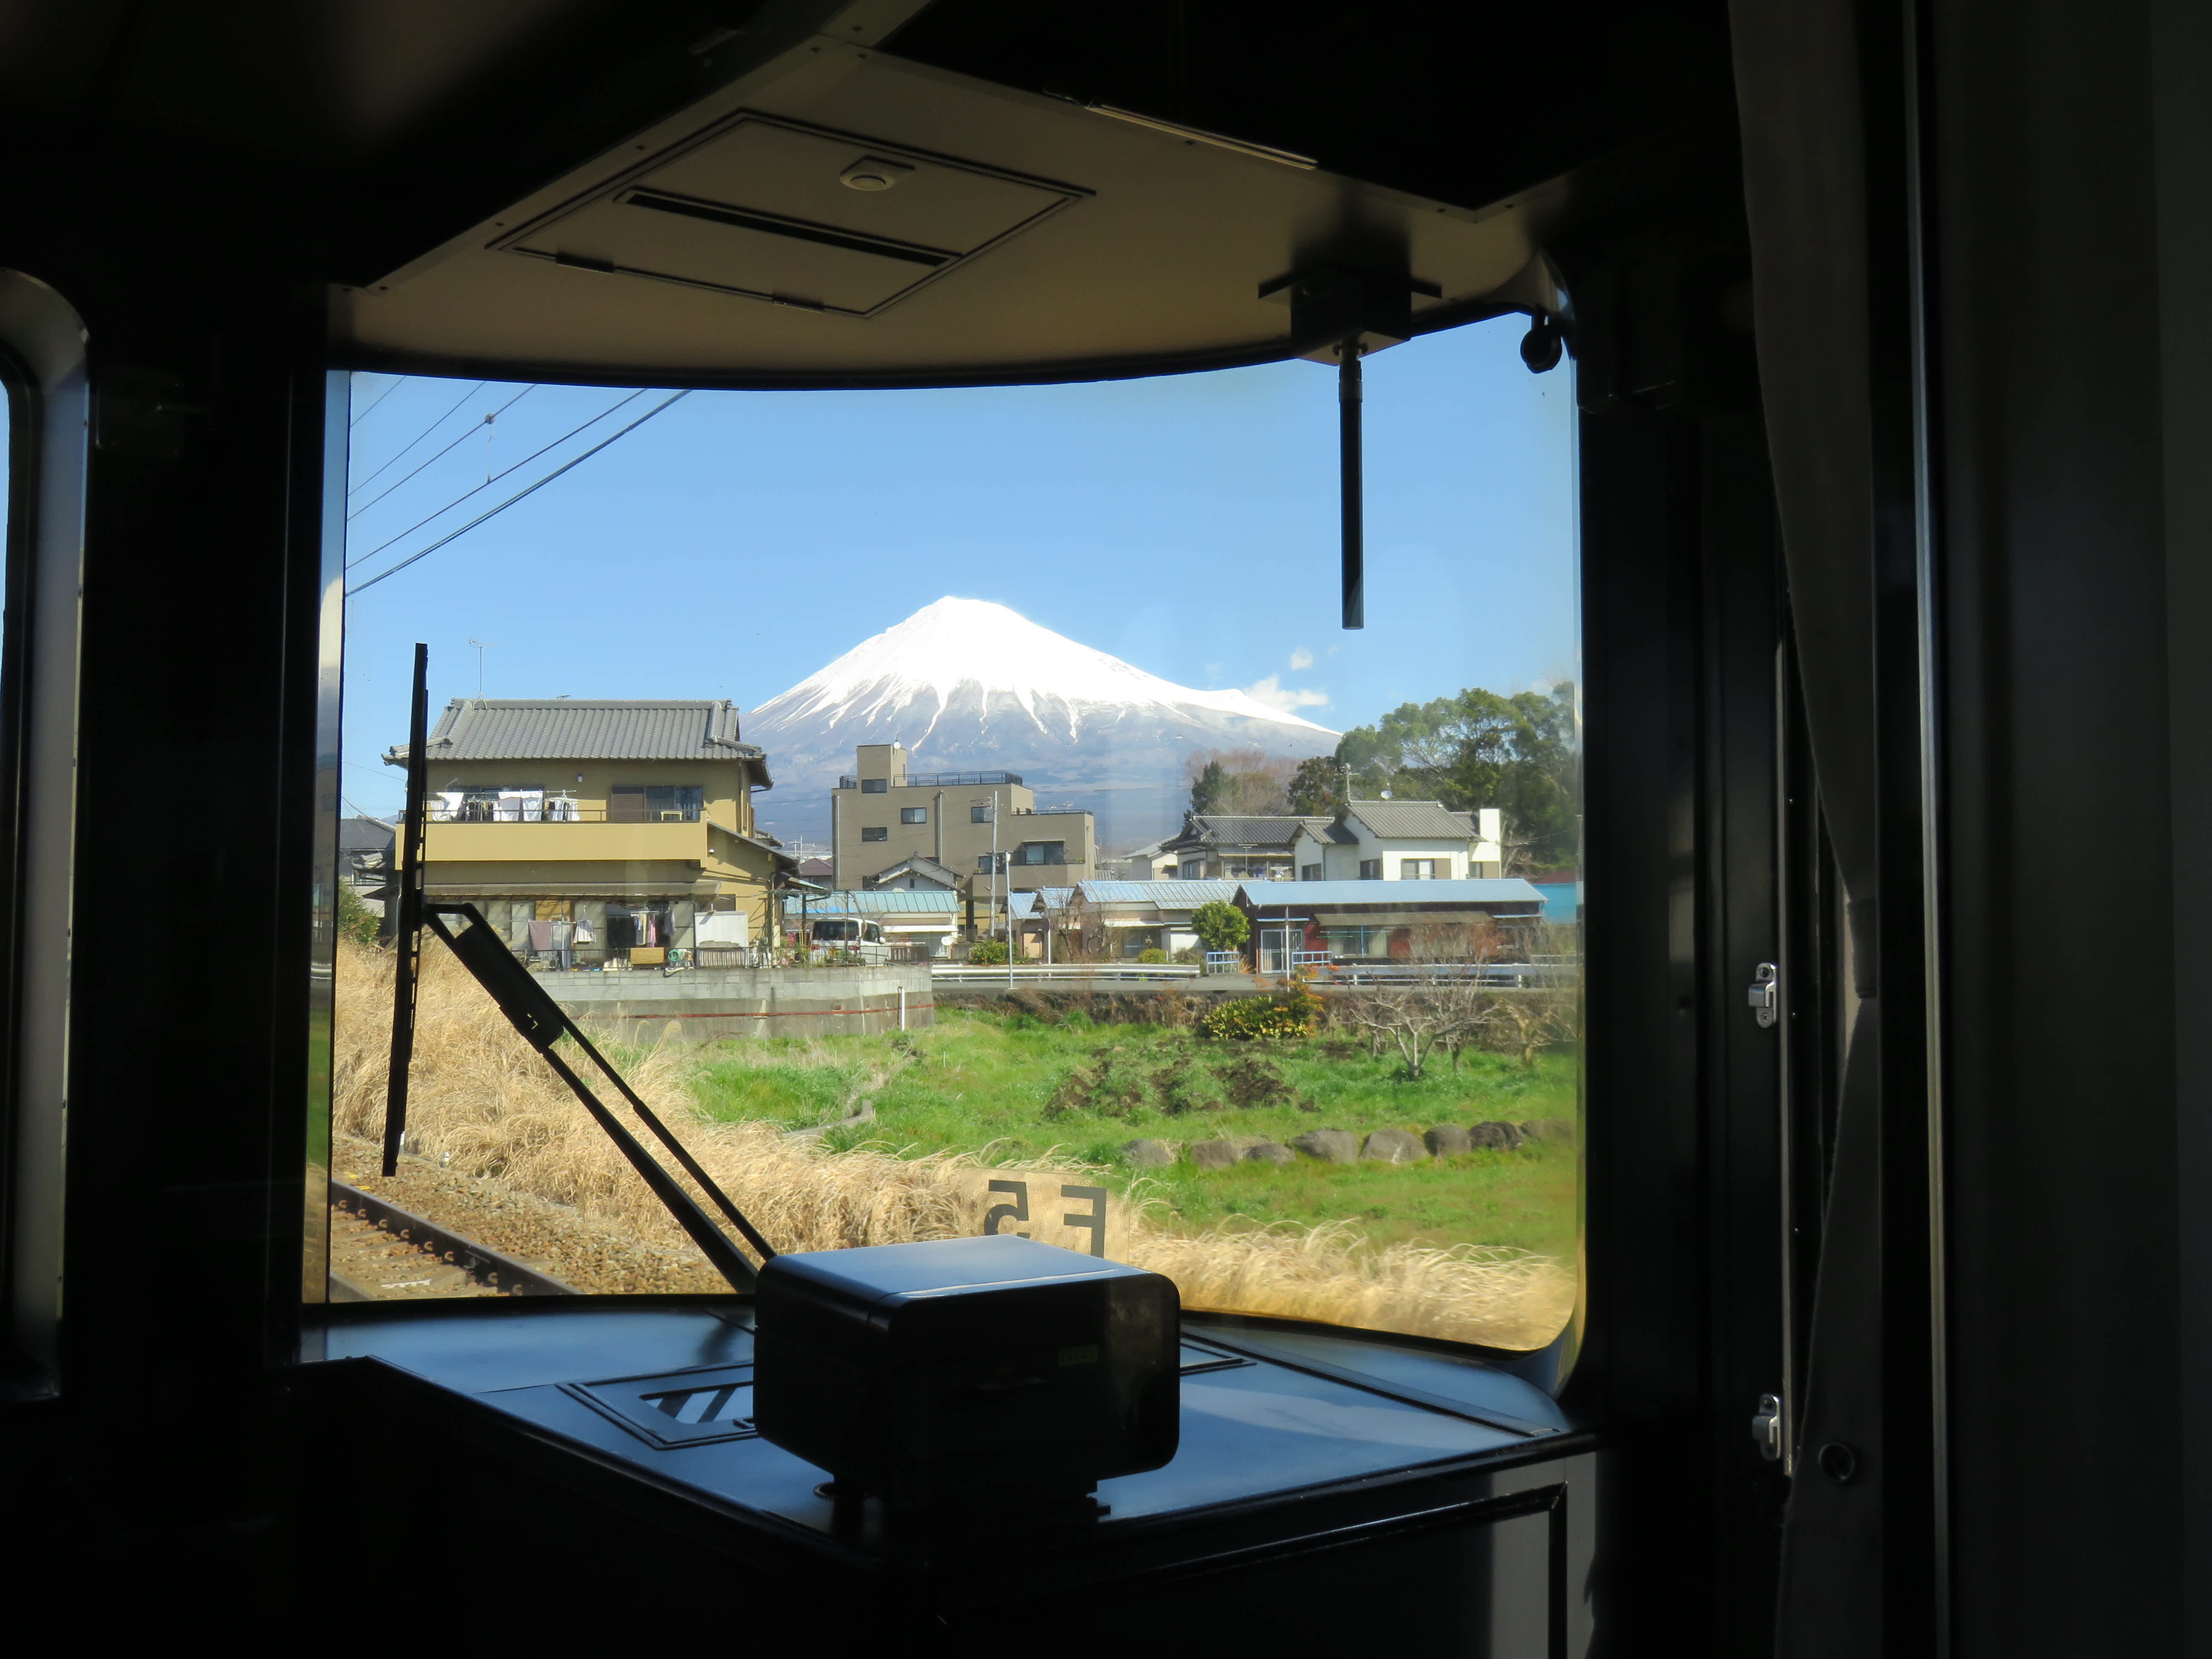
<path id="1" fill-rule="evenodd" d="M 761 761 L 737 737 L 737 703 L 622 701 L 575 697 L 456 697 L 425 745 L 440 761 Z M 405 765 L 407 745 L 385 750 Z M 765 770 L 761 781 L 765 783 Z"/>

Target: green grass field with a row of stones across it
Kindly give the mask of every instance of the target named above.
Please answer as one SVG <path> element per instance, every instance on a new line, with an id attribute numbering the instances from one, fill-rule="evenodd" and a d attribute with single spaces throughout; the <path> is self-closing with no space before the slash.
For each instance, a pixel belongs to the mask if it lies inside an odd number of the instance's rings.
<path id="1" fill-rule="evenodd" d="M 1285 1168 L 1228 1170 L 1197 1170 L 1188 1157 L 1133 1170 L 1119 1150 L 1139 1137 L 1188 1148 L 1214 1137 L 1287 1144 L 1310 1128 L 1418 1135 L 1436 1124 L 1573 1119 L 1568 1055 L 1542 1055 L 1524 1071 L 1515 1060 L 1471 1051 L 1458 1073 L 1438 1055 L 1409 1079 L 1396 1055 L 1369 1060 L 1365 1046 L 1318 1037 L 1208 1042 L 1166 1026 L 1093 1026 L 1082 1015 L 1046 1024 L 958 1009 L 911 1035 L 719 1042 L 690 1055 L 686 1073 L 699 1106 L 719 1119 L 803 1128 L 872 1099 L 876 1121 L 832 1130 L 830 1146 L 841 1150 L 860 1141 L 1004 1159 L 1057 1150 L 1106 1166 L 1117 1188 L 1141 1175 L 1181 1228 L 1230 1217 L 1349 1221 L 1378 1243 L 1515 1245 L 1573 1256 L 1573 1141 L 1413 1166 L 1301 1157 Z"/>

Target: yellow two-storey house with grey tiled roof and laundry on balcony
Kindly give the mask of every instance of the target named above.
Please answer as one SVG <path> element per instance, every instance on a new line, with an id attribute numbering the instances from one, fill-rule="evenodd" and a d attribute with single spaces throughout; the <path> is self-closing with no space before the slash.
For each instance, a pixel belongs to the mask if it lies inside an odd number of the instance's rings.
<path id="1" fill-rule="evenodd" d="M 772 889 L 796 860 L 754 832 L 768 761 L 732 703 L 458 697 L 425 759 L 425 891 L 473 900 L 533 962 L 772 938 Z M 405 765 L 405 745 L 385 763 Z"/>

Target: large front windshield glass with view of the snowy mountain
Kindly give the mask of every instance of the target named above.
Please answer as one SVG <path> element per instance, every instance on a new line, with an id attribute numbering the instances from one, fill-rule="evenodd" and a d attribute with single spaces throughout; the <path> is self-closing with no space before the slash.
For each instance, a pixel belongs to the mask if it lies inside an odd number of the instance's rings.
<path id="1" fill-rule="evenodd" d="M 354 376 L 330 1294 L 721 1287 L 436 938 L 380 1172 L 425 644 L 425 898 L 471 905 L 779 1250 L 1018 1232 L 1194 1307 L 1551 1343 L 1575 394 L 1524 330 L 1367 361 L 1360 630 L 1314 363 Z"/>

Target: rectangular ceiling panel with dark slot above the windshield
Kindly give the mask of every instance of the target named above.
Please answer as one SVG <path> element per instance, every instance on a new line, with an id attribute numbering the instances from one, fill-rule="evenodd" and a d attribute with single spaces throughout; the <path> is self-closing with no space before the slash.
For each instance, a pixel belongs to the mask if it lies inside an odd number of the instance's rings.
<path id="1" fill-rule="evenodd" d="M 493 246 L 577 270 L 876 316 L 1086 195 L 739 111 Z"/>

